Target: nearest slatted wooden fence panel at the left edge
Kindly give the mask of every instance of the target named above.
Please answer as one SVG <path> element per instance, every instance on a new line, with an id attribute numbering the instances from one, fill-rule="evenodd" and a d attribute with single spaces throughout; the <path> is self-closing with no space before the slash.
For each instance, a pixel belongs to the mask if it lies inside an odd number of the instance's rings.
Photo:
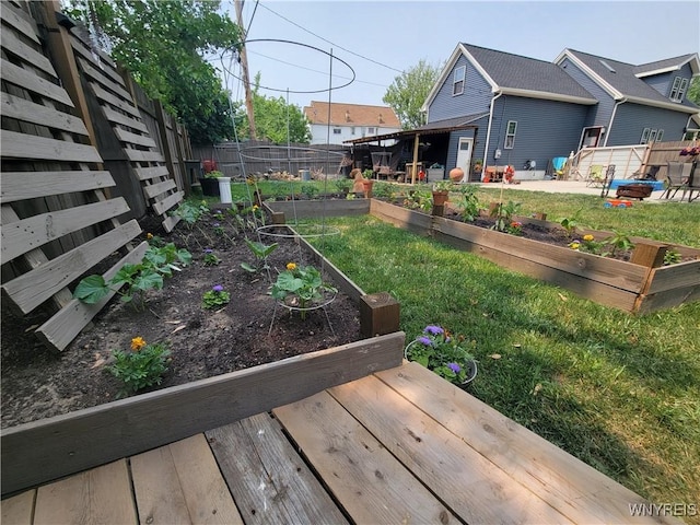
<path id="1" fill-rule="evenodd" d="M 117 220 L 129 208 L 105 196 L 114 180 L 72 115 L 34 20 L 9 2 L 0 2 L 0 19 L 2 294 L 19 315 L 48 308 L 36 335 L 63 350 L 110 298 L 85 305 L 71 287 L 116 250 L 130 253 L 106 277 L 138 262 L 148 244 L 133 249 L 138 222 Z"/>

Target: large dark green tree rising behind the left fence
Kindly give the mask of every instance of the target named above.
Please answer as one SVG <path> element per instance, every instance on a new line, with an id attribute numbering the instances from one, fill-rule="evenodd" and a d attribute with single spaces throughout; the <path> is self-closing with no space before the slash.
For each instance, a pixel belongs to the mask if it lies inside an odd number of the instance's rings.
<path id="1" fill-rule="evenodd" d="M 219 1 L 73 0 L 67 14 L 98 25 L 112 57 L 187 127 L 194 143 L 232 137 L 228 95 L 206 54 L 235 49 L 241 31 Z"/>

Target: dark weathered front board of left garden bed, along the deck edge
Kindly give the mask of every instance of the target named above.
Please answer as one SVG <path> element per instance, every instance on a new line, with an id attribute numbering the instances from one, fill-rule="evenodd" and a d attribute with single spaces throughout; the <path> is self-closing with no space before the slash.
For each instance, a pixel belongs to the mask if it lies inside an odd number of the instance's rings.
<path id="1" fill-rule="evenodd" d="M 397 366 L 404 341 L 404 332 L 374 337 L 3 429 L 1 490 L 139 454 Z"/>

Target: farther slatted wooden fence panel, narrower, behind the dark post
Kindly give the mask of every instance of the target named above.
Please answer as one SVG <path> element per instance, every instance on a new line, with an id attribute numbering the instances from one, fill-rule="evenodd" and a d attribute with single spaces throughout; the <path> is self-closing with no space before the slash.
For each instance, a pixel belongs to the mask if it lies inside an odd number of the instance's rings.
<path id="1" fill-rule="evenodd" d="M 88 79 L 104 118 L 112 125 L 133 175 L 141 183 L 147 202 L 158 215 L 163 217 L 163 228 L 171 232 L 179 219 L 167 215 L 167 211 L 183 200 L 184 192 L 178 190 L 124 79 L 114 61 L 106 55 L 94 51 L 90 43 L 81 39 L 78 33 L 73 33 L 71 45 L 75 61 Z"/>

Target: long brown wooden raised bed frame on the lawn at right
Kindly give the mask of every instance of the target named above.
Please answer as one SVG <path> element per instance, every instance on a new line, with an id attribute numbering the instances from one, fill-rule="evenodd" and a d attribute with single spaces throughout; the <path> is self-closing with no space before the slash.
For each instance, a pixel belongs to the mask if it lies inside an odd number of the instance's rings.
<path id="1" fill-rule="evenodd" d="M 559 285 L 606 306 L 643 314 L 700 299 L 700 249 L 631 237 L 637 248 L 632 261 L 627 262 L 429 215 L 377 199 L 369 200 L 369 213 L 385 222 L 419 235 L 432 236 L 503 268 Z M 279 213 L 281 208 L 278 205 L 270 202 L 268 206 L 273 213 Z M 313 206 L 318 213 L 316 217 L 320 217 L 320 201 L 307 201 L 305 217 L 313 217 Z M 517 220 L 561 228 L 536 219 Z M 585 230 L 581 235 L 586 233 L 594 234 L 596 238 L 610 235 L 609 232 L 592 230 Z M 669 247 L 698 260 L 662 266 L 663 255 Z"/>

